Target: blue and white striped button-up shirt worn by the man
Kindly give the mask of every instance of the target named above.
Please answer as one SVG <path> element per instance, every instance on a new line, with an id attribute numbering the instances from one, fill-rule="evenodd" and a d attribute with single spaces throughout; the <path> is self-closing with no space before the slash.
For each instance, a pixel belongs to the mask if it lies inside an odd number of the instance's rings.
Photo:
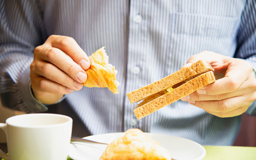
<path id="1" fill-rule="evenodd" d="M 68 108 L 83 122 L 82 136 L 139 128 L 202 145 L 232 145 L 241 116 L 218 118 L 179 100 L 136 120 L 126 93 L 179 70 L 203 50 L 256 68 L 255 8 L 255 0 L 1 0 L 1 101 L 27 113 L 59 106 L 68 114 Z M 88 55 L 106 46 L 120 93 L 84 87 L 54 105 L 37 102 L 29 66 L 34 48 L 52 34 L 74 38 Z M 246 112 L 256 115 L 256 105 Z"/>

